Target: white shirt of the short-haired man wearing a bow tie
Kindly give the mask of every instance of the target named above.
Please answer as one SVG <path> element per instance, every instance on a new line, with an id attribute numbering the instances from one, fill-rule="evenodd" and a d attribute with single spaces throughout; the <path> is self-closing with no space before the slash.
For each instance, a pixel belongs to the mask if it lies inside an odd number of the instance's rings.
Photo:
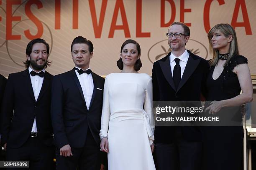
<path id="1" fill-rule="evenodd" d="M 78 68 L 79 70 L 81 69 L 79 67 L 76 67 L 76 68 Z M 88 69 L 90 69 L 90 67 L 87 68 L 86 70 L 88 70 Z M 78 80 L 79 80 L 80 85 L 82 87 L 82 91 L 83 91 L 83 94 L 84 94 L 84 100 L 86 102 L 87 110 L 89 110 L 91 99 L 92 99 L 92 93 L 93 93 L 92 74 L 88 75 L 87 73 L 83 73 L 83 74 L 79 75 L 77 70 L 75 70 L 75 72 L 77 74 Z"/>

